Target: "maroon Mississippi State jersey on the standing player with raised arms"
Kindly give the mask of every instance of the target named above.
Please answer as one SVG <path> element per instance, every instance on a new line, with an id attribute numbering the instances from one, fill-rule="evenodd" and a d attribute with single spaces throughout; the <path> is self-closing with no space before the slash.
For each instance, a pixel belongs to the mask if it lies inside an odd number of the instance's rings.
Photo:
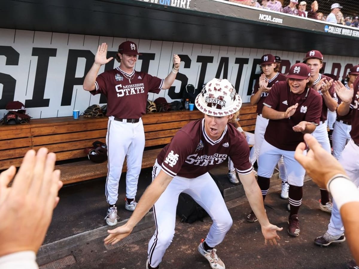
<path id="1" fill-rule="evenodd" d="M 117 67 L 98 75 L 91 93 L 107 96 L 107 116 L 138 119 L 146 113 L 148 93 L 159 93 L 162 85 L 163 79 L 145 72 L 127 74 Z"/>

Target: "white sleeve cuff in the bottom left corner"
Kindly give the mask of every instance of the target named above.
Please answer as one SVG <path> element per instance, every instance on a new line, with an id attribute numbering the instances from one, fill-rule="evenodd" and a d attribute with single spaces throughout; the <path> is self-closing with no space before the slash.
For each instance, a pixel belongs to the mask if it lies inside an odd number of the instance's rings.
<path id="1" fill-rule="evenodd" d="M 38 269 L 33 251 L 19 251 L 0 257 L 0 269 Z"/>

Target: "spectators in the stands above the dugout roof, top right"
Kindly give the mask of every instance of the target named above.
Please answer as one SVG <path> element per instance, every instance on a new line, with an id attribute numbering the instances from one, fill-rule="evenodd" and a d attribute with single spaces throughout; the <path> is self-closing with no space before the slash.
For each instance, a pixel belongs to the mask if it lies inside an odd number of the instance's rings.
<path id="1" fill-rule="evenodd" d="M 298 15 L 303 18 L 317 19 L 351 27 L 358 28 L 359 25 L 359 17 L 344 16 L 340 11 L 342 6 L 339 3 L 333 3 L 331 5 L 331 13 L 323 14 L 322 12 L 318 12 L 320 10 L 317 0 L 314 0 L 310 5 L 307 4 L 306 1 L 291 0 L 287 6 L 283 6 L 279 0 L 229 0 L 229 2 L 253 6 L 256 8 L 269 9 L 286 14 Z"/>

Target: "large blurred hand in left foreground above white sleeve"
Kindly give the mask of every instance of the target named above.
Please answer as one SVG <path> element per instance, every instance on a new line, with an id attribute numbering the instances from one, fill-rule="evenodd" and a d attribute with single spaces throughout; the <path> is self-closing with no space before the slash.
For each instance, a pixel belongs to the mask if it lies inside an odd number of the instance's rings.
<path id="1" fill-rule="evenodd" d="M 47 148 L 37 154 L 29 150 L 16 175 L 14 166 L 0 174 L 0 256 L 24 250 L 37 253 L 59 202 L 62 182 L 55 161 Z"/>

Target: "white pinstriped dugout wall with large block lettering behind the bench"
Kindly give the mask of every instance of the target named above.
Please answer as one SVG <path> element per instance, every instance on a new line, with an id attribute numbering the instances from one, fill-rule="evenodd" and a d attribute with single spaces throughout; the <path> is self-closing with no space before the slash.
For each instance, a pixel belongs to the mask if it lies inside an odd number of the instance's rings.
<path id="1" fill-rule="evenodd" d="M 83 90 L 85 75 L 94 62 L 98 44 L 108 44 L 108 57 L 117 52 L 125 38 L 86 36 L 79 34 L 0 29 L 0 115 L 10 101 L 25 104 L 33 118 L 64 117 L 73 109 L 82 113 L 89 105 L 106 104 L 102 95 Z M 132 40 L 132 39 L 131 39 Z M 172 57 L 181 57 L 181 67 L 170 89 L 149 94 L 149 99 L 165 97 L 168 102 L 182 98 L 187 84 L 201 88 L 213 79 L 228 79 L 243 102 L 249 102 L 255 80 L 260 74 L 262 55 L 281 57 L 283 73 L 302 61 L 304 53 L 270 51 L 241 47 L 211 46 L 133 39 L 139 52 L 135 69 L 165 78 L 172 69 Z M 324 56 L 325 72 L 344 77 L 359 58 Z M 117 67 L 115 60 L 102 66 L 100 73 Z"/>

